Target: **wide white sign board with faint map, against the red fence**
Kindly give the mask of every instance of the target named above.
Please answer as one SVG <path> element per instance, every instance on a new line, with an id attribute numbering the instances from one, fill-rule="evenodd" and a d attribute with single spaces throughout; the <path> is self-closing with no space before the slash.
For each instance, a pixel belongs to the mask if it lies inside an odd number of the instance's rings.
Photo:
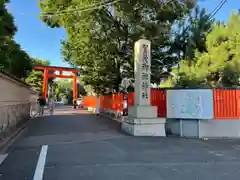
<path id="1" fill-rule="evenodd" d="M 167 118 L 213 119 L 211 89 L 167 90 Z"/>

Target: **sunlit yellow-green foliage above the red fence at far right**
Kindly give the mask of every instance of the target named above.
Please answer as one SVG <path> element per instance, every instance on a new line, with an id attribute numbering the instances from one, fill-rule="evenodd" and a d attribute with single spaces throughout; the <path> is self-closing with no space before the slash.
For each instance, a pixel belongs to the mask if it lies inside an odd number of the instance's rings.
<path id="1" fill-rule="evenodd" d="M 194 63 L 180 64 L 178 86 L 238 87 L 240 85 L 240 15 L 216 23 L 207 36 L 207 52 L 195 52 Z"/>

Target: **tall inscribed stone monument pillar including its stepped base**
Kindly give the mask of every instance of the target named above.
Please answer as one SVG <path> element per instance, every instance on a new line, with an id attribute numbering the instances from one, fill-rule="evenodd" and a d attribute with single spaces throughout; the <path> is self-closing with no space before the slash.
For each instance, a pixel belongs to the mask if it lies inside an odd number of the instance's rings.
<path id="1" fill-rule="evenodd" d="M 134 106 L 129 107 L 122 130 L 134 136 L 166 136 L 165 118 L 158 118 L 157 107 L 150 103 L 151 42 L 140 39 L 134 47 Z"/>

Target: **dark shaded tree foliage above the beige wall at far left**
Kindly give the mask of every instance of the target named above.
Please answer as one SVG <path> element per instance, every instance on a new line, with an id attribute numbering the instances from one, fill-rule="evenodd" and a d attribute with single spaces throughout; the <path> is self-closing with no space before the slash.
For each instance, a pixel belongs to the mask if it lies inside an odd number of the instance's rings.
<path id="1" fill-rule="evenodd" d="M 13 40 L 17 28 L 13 16 L 7 11 L 8 2 L 0 1 L 0 67 L 19 78 L 25 78 L 32 69 L 31 58 Z"/>

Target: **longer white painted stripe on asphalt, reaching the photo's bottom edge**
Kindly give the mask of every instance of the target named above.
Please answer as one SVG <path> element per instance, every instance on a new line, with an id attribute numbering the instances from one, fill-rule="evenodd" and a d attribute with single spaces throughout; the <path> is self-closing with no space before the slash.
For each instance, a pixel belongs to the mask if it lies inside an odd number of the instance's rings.
<path id="1" fill-rule="evenodd" d="M 43 145 L 38 158 L 38 163 L 34 173 L 33 180 L 43 179 L 43 172 L 44 172 L 44 166 L 45 166 L 46 157 L 47 157 L 47 150 L 48 150 L 48 145 Z"/>

